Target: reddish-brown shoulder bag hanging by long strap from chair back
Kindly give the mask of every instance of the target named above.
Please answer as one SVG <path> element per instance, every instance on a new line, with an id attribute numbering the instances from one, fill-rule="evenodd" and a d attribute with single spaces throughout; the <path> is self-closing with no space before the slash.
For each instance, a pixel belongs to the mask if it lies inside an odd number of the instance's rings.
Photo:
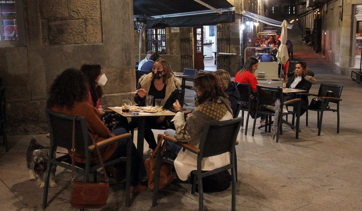
<path id="1" fill-rule="evenodd" d="M 75 116 L 76 117 L 76 116 Z M 97 143 L 93 140 L 96 146 L 99 160 L 102 164 L 105 183 L 91 183 L 91 182 L 74 182 L 74 136 L 75 136 L 75 117 L 73 117 L 73 137 L 72 137 L 72 185 L 73 190 L 71 194 L 72 207 L 79 209 L 100 209 L 106 205 L 108 199 L 108 177 L 102 160 L 101 153 L 99 152 Z M 92 138 L 92 136 L 90 136 Z M 92 138 L 93 139 L 93 138 Z"/>

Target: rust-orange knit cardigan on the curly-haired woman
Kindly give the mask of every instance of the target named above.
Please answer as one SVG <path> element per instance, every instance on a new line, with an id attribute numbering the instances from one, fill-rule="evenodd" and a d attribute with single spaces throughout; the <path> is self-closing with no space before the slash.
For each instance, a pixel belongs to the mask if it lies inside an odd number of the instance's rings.
<path id="1" fill-rule="evenodd" d="M 108 128 L 101 121 L 100 114 L 97 112 L 97 109 L 95 109 L 92 105 L 90 105 L 88 101 L 75 102 L 71 109 L 68 109 L 66 106 L 63 107 L 54 106 L 52 107 L 52 110 L 66 115 L 72 115 L 72 116 L 79 115 L 81 117 L 85 117 L 88 131 L 90 132 L 93 139 L 97 143 L 114 136 L 114 134 L 111 134 Z M 92 140 L 90 140 L 88 145 L 92 144 L 93 144 Z M 102 159 L 104 161 L 108 160 L 116 148 L 117 148 L 117 143 L 113 143 L 108 145 L 107 147 L 100 148 Z M 70 149 L 68 149 L 68 153 L 71 153 Z M 83 153 L 75 152 L 75 162 L 85 163 L 85 155 Z M 91 153 L 90 163 L 91 164 L 99 163 L 99 158 L 96 151 Z"/>

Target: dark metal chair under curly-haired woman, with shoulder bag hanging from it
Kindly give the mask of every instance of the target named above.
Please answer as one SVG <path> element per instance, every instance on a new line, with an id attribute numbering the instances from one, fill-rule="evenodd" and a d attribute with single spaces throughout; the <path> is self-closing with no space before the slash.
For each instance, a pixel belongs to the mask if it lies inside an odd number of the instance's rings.
<path id="1" fill-rule="evenodd" d="M 50 131 L 50 155 L 49 157 L 54 157 L 56 148 L 63 147 L 68 150 L 72 149 L 72 127 L 73 127 L 73 116 L 64 115 L 56 113 L 49 109 L 45 109 L 45 113 L 48 120 L 48 126 Z M 118 142 L 122 139 L 127 139 L 127 157 L 119 157 L 113 160 L 104 161 L 104 165 L 111 165 L 121 161 L 126 161 L 126 207 L 130 207 L 130 185 L 131 185 L 131 144 L 132 144 L 132 135 L 129 133 L 115 136 L 102 142 L 98 142 L 97 145 L 99 148 L 105 147 L 109 144 Z M 76 168 L 74 169 L 77 173 L 82 173 L 84 178 L 83 182 L 89 181 L 89 173 L 93 173 L 93 182 L 97 182 L 97 169 L 102 168 L 101 164 L 90 164 L 90 154 L 96 150 L 94 145 L 89 145 L 92 143 L 92 137 L 90 137 L 87 123 L 85 122 L 84 117 L 75 118 L 75 150 L 76 152 L 85 154 L 85 164 L 75 163 Z M 47 197 L 48 197 L 48 188 L 49 188 L 49 176 L 50 169 L 52 165 L 62 166 L 66 169 L 72 169 L 72 160 L 70 155 L 63 155 L 54 159 L 49 159 L 45 185 L 44 185 L 44 195 L 43 195 L 43 208 L 47 206 Z"/>

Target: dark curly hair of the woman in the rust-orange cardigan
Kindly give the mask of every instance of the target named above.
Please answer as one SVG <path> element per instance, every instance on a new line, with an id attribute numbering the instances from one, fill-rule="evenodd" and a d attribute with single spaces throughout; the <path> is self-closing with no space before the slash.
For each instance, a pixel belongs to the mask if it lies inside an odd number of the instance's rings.
<path id="1" fill-rule="evenodd" d="M 88 84 L 85 76 L 77 69 L 66 69 L 56 77 L 50 86 L 46 107 L 73 107 L 74 102 L 87 101 Z"/>

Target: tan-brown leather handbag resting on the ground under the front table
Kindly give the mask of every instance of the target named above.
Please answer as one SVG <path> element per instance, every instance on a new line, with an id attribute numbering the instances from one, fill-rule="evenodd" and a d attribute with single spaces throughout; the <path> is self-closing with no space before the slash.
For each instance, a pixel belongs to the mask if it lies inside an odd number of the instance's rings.
<path id="1" fill-rule="evenodd" d="M 157 139 L 160 138 L 160 141 L 157 143 L 157 146 L 154 151 L 150 152 L 150 158 L 144 161 L 144 167 L 146 168 L 146 173 L 148 177 L 148 188 L 153 191 L 153 187 L 155 186 L 155 168 L 156 168 L 156 153 L 161 147 L 164 134 L 159 134 Z M 161 157 L 165 157 L 166 144 L 163 145 L 161 149 Z M 161 163 L 160 168 L 160 182 L 159 182 L 159 190 L 163 189 L 165 186 L 169 185 L 176 174 L 171 172 L 172 166 L 167 163 Z"/>

